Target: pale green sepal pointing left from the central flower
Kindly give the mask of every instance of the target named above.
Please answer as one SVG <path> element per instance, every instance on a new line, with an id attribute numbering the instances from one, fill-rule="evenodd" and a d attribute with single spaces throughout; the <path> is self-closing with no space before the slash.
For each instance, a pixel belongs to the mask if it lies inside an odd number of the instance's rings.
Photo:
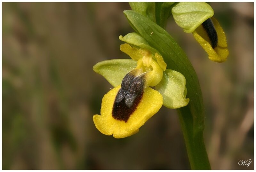
<path id="1" fill-rule="evenodd" d="M 113 59 L 97 63 L 93 66 L 93 70 L 116 87 L 122 83 L 124 76 L 136 66 L 137 61 L 132 59 Z"/>

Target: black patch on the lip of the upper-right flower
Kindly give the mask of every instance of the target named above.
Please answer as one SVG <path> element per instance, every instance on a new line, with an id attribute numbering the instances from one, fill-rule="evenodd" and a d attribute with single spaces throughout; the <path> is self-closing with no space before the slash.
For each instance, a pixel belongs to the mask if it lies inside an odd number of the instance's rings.
<path id="1" fill-rule="evenodd" d="M 218 35 L 212 23 L 212 19 L 205 20 L 202 23 L 202 26 L 204 27 L 204 30 L 211 41 L 212 48 L 214 49 L 215 47 L 217 47 L 218 44 Z"/>

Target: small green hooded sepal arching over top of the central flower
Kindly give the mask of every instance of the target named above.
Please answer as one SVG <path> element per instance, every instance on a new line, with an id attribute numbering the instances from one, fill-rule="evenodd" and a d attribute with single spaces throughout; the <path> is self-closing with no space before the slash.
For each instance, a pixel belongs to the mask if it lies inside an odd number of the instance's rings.
<path id="1" fill-rule="evenodd" d="M 120 35 L 119 39 L 121 41 L 124 41 L 126 43 L 129 43 L 130 45 L 132 45 L 132 47 L 136 47 L 138 49 L 140 48 L 144 48 L 146 50 L 149 50 L 152 52 L 152 54 L 155 55 L 155 53 L 160 54 L 156 49 L 154 49 L 153 47 L 151 47 L 148 42 L 141 37 L 139 34 L 137 34 L 136 32 L 132 32 L 129 33 L 125 36 Z"/>

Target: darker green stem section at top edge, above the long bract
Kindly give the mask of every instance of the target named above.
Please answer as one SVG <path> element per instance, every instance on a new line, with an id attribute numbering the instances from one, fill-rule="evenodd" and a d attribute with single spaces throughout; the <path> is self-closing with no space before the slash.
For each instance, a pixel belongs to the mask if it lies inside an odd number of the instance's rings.
<path id="1" fill-rule="evenodd" d="M 166 27 L 167 19 L 171 16 L 171 6 L 175 2 L 156 2 L 156 24 Z"/>

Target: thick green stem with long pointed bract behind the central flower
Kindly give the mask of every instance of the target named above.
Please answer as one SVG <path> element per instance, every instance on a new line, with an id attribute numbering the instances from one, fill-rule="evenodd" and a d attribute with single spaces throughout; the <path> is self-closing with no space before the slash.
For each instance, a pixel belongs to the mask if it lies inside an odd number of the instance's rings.
<path id="1" fill-rule="evenodd" d="M 186 78 L 188 106 L 178 109 L 192 169 L 211 169 L 204 146 L 204 104 L 196 72 L 181 47 L 163 28 L 147 17 L 130 10 L 124 11 L 132 28 L 163 56 L 167 68 Z"/>

